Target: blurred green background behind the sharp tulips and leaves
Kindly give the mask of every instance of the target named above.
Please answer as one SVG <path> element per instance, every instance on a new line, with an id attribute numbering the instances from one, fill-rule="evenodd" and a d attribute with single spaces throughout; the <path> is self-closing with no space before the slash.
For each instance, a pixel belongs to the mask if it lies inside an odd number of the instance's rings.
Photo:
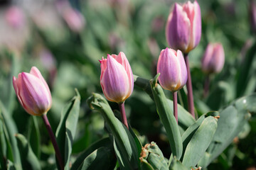
<path id="1" fill-rule="evenodd" d="M 54 131 L 63 106 L 75 95 L 74 89 L 80 92 L 81 109 L 73 155 L 106 136 L 101 115 L 90 111 L 86 103 L 92 92 L 102 94 L 98 60 L 122 51 L 134 74 L 145 79 L 154 77 L 160 51 L 168 46 L 165 25 L 175 2 L 185 1 L 1 1 L 0 99 L 14 118 L 18 132 L 26 136 L 32 118 L 16 100 L 12 76 L 17 77 L 18 72 L 29 72 L 36 66 L 53 96 L 48 118 Z M 250 1 L 198 0 L 198 4 L 202 16 L 201 42 L 189 53 L 189 60 L 195 106 L 201 115 L 218 111 L 235 98 L 252 94 L 256 85 L 256 61 L 255 52 L 247 52 L 255 43 L 249 22 Z M 210 77 L 210 94 L 203 98 L 206 76 L 201 71 L 201 57 L 208 42 L 223 44 L 225 66 L 220 74 Z M 247 54 L 250 62 L 247 62 Z M 171 98 L 169 91 L 165 92 Z M 118 108 L 116 103 L 110 105 L 113 109 Z M 126 101 L 126 111 L 129 123 L 143 141 L 156 142 L 169 157 L 168 140 L 151 98 L 135 86 L 134 93 Z M 48 169 L 54 162 L 54 157 L 49 156 L 53 147 L 41 119 L 37 119 L 41 159 L 45 162 L 44 169 Z M 252 116 L 240 138 L 208 169 L 247 169 L 251 166 L 256 169 L 255 134 L 256 120 Z"/>

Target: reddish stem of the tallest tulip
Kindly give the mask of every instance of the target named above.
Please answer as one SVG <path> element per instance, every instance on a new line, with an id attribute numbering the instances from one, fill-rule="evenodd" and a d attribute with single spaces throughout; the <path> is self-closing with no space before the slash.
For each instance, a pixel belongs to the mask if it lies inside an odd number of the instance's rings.
<path id="1" fill-rule="evenodd" d="M 191 72 L 189 68 L 189 62 L 188 62 L 188 54 L 184 54 L 185 62 L 186 62 L 186 68 L 188 70 L 188 81 L 186 82 L 186 86 L 188 89 L 188 111 L 191 113 L 193 118 L 195 118 L 195 111 L 194 111 L 194 103 L 193 103 L 193 89 L 192 89 L 192 82 L 191 82 Z"/>

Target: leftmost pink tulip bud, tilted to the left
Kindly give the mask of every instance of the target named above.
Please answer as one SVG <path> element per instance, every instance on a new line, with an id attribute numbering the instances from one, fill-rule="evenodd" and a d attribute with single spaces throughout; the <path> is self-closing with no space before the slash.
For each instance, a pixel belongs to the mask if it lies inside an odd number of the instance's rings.
<path id="1" fill-rule="evenodd" d="M 31 115 L 43 115 L 52 105 L 50 89 L 36 67 L 30 73 L 22 72 L 13 77 L 13 85 L 18 101 Z"/>

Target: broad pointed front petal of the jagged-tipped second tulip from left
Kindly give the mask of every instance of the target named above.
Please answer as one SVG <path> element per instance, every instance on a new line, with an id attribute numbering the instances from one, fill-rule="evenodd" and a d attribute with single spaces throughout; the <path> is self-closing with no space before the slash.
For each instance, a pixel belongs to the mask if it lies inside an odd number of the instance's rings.
<path id="1" fill-rule="evenodd" d="M 103 93 L 109 101 L 123 102 L 127 98 L 129 79 L 122 64 L 111 55 L 107 56 L 107 68 L 102 75 Z"/>

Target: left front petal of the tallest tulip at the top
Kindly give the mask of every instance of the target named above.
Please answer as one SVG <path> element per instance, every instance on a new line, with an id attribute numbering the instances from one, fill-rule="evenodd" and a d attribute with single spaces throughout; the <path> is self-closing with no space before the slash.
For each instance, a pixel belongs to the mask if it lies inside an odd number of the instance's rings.
<path id="1" fill-rule="evenodd" d="M 166 24 L 166 40 L 174 50 L 185 51 L 191 34 L 191 23 L 185 11 L 179 4 L 175 4 Z"/>

